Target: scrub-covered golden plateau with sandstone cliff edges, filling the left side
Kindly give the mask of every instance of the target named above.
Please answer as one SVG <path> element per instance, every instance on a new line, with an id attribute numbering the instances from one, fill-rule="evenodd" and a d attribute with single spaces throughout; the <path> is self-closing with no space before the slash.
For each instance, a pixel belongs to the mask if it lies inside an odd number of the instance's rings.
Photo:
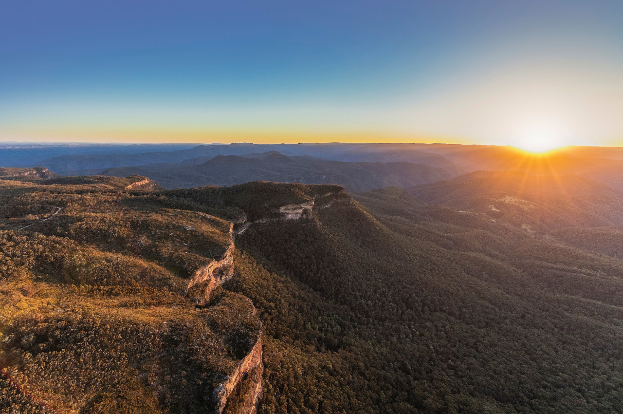
<path id="1" fill-rule="evenodd" d="M 0 276 L 14 277 L 15 286 L 4 298 L 27 314 L 0 329 L 3 350 L 15 357 L 7 372 L 62 412 L 120 400 L 136 412 L 146 404 L 163 412 L 257 412 L 267 393 L 262 319 L 237 281 L 219 287 L 234 277 L 235 234 L 254 223 L 267 231 L 277 221 L 307 226 L 322 209 L 350 203 L 333 185 L 151 191 L 155 183 L 143 176 L 0 181 L 16 213 L 0 217 L 0 226 L 21 228 L 0 235 L 10 259 Z M 55 210 L 62 214 L 29 226 L 32 213 Z M 38 412 L 14 385 L 0 381 L 0 394 L 2 387 L 13 393 L 14 411 Z"/>

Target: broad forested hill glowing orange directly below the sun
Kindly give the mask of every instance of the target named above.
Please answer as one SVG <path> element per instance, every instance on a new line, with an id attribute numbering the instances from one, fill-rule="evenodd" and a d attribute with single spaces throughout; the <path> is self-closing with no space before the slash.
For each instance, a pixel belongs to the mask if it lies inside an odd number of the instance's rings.
<path id="1" fill-rule="evenodd" d="M 543 231 L 622 223 L 623 193 L 574 175 L 475 171 L 407 192 L 429 205 L 446 205 Z"/>

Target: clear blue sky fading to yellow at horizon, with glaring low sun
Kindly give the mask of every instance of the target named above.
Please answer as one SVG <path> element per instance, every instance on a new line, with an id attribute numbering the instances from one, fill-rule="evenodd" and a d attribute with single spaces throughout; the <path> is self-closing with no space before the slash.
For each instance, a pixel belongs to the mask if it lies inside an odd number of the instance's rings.
<path id="1" fill-rule="evenodd" d="M 623 2 L 6 1 L 0 141 L 623 145 Z"/>

